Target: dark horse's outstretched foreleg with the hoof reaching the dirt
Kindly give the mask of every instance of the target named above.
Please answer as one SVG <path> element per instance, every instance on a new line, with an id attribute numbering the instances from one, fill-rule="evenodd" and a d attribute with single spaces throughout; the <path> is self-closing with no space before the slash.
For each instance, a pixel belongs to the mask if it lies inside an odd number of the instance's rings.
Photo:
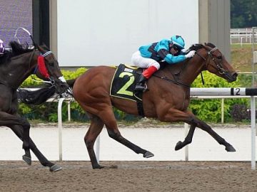
<path id="1" fill-rule="evenodd" d="M 23 129 L 21 128 L 21 126 L 14 125 L 14 126 L 11 126 L 10 128 L 16 134 L 16 136 L 18 136 L 19 139 L 21 139 L 21 141 L 23 141 Z M 34 152 L 34 154 L 36 155 L 36 157 L 39 159 L 40 163 L 43 166 L 48 166 L 50 171 L 61 170 L 61 166 L 51 163 L 51 161 L 47 160 L 46 157 L 43 154 L 41 154 L 41 151 L 39 151 L 39 149 L 37 149 L 36 144 L 34 144 L 34 142 L 32 141 L 31 138 L 29 139 L 29 145 L 31 147 L 31 151 Z M 28 163 L 28 162 L 26 161 L 26 163 Z"/>

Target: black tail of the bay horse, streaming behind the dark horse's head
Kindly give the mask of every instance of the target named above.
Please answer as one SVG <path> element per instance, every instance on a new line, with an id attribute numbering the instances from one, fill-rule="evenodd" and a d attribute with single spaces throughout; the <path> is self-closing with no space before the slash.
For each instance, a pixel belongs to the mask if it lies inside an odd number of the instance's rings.
<path id="1" fill-rule="evenodd" d="M 69 87 L 74 86 L 76 79 L 67 80 Z M 71 91 L 72 92 L 72 91 Z M 56 93 L 56 87 L 53 85 L 46 85 L 46 87 L 39 88 L 39 90 L 23 90 L 19 89 L 18 99 L 27 105 L 41 105 L 46 102 L 50 97 L 54 97 Z M 72 93 L 70 94 L 72 95 Z"/>

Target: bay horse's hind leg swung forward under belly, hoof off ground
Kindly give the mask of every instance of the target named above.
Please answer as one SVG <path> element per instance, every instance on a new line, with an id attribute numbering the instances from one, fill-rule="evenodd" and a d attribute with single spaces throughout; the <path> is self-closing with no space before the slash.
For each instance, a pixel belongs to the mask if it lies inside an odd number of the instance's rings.
<path id="1" fill-rule="evenodd" d="M 129 142 L 129 140 L 121 136 L 121 133 L 119 132 L 119 129 L 116 124 L 114 112 L 112 111 L 111 108 L 110 110 L 104 110 L 103 112 L 101 112 L 100 118 L 104 121 L 104 124 L 106 125 L 106 129 L 108 131 L 109 137 L 129 147 L 129 149 L 136 152 L 136 154 L 143 154 L 143 157 L 145 158 L 153 156 L 153 154 L 150 151 L 141 149 L 136 144 Z"/>

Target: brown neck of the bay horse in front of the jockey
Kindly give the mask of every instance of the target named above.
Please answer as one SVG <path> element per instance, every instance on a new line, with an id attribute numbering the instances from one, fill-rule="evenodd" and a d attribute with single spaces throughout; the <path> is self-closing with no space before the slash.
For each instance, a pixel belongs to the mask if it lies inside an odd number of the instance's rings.
<path id="1" fill-rule="evenodd" d="M 178 82 L 182 82 L 184 85 L 190 86 L 201 73 L 203 61 L 203 58 L 195 55 L 190 60 L 179 63 L 178 65 L 169 65 L 168 70 L 173 74 L 173 77 L 177 78 Z"/>

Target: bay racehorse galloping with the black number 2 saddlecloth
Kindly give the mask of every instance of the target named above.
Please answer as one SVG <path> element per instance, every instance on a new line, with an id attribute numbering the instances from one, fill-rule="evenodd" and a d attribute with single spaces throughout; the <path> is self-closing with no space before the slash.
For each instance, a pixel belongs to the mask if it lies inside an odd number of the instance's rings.
<path id="1" fill-rule="evenodd" d="M 178 142 L 175 150 L 190 144 L 195 128 L 199 127 L 211 134 L 218 144 L 226 146 L 226 151 L 236 151 L 208 124 L 195 117 L 187 109 L 190 102 L 190 86 L 202 70 L 208 70 L 228 80 L 228 82 L 235 81 L 237 73 L 220 50 L 211 43 L 196 44 L 191 46 L 189 50 L 196 50 L 196 55 L 193 58 L 176 65 L 166 65 L 148 80 L 148 91 L 143 93 L 144 115 L 157 118 L 162 122 L 186 122 L 191 125 L 186 139 L 183 142 Z M 111 80 L 115 70 L 116 68 L 107 66 L 91 68 L 76 78 L 74 84 L 72 81 L 68 83 L 73 86 L 76 101 L 91 117 L 91 125 L 84 140 L 93 169 L 103 168 L 96 160 L 94 142 L 104 125 L 112 139 L 129 147 L 136 154 L 143 154 L 143 157 L 153 156 L 150 151 L 141 149 L 141 147 L 129 142 L 119 132 L 113 106 L 129 114 L 138 114 L 138 109 L 136 102 L 110 96 Z"/>

